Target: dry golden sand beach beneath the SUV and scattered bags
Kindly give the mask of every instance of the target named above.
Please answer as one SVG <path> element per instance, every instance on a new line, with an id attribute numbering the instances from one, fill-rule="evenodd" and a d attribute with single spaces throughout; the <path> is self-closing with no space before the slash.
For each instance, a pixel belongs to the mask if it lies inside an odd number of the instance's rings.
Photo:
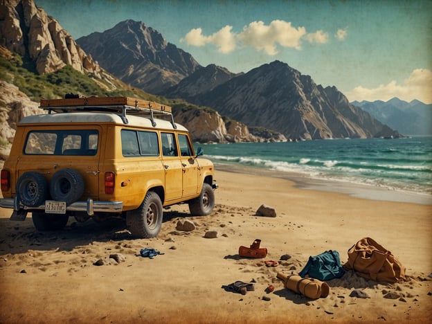
<path id="1" fill-rule="evenodd" d="M 430 321 L 431 204 L 305 190 L 266 174 L 216 170 L 215 178 L 212 215 L 191 217 L 187 205 L 173 206 L 165 210 L 159 236 L 150 240 L 134 240 L 118 222 L 73 218 L 63 231 L 41 233 L 30 217 L 12 222 L 10 210 L 1 209 L 0 323 Z M 277 217 L 256 216 L 261 204 L 275 208 Z M 178 231 L 183 219 L 194 222 L 195 230 Z M 217 237 L 204 237 L 208 231 Z M 375 282 L 348 271 L 327 282 L 327 298 L 311 300 L 276 278 L 278 272 L 298 273 L 309 255 L 329 249 L 345 263 L 362 237 L 390 250 L 406 267 L 406 280 Z M 240 257 L 239 246 L 256 238 L 267 257 Z M 163 254 L 143 258 L 144 248 Z M 291 258 L 280 260 L 282 255 Z M 95 265 L 98 260 L 103 265 Z M 279 264 L 266 267 L 264 260 Z M 255 290 L 242 295 L 226 289 L 236 280 L 253 281 Z M 275 289 L 267 293 L 269 285 Z M 354 289 L 370 298 L 350 296 Z"/>

